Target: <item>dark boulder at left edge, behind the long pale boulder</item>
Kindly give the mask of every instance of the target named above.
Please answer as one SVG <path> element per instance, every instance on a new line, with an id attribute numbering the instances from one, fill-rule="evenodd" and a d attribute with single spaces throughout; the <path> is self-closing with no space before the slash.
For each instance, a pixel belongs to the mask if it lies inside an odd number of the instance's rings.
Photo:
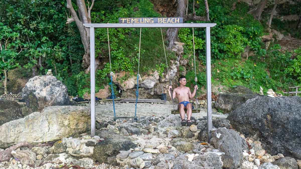
<path id="1" fill-rule="evenodd" d="M 0 100 L 0 126 L 12 120 L 23 118 L 20 105 L 11 100 Z"/>

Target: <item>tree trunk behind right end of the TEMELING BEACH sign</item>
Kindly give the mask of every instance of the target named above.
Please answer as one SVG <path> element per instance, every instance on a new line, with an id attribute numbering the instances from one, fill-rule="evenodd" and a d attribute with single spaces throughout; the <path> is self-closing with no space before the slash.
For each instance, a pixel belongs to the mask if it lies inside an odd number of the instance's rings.
<path id="1" fill-rule="evenodd" d="M 185 0 L 178 0 L 178 7 L 175 17 L 184 17 L 185 13 Z M 169 28 L 166 32 L 167 40 L 169 42 L 168 49 L 171 49 L 174 45 L 176 38 L 178 37 L 179 28 Z"/>

